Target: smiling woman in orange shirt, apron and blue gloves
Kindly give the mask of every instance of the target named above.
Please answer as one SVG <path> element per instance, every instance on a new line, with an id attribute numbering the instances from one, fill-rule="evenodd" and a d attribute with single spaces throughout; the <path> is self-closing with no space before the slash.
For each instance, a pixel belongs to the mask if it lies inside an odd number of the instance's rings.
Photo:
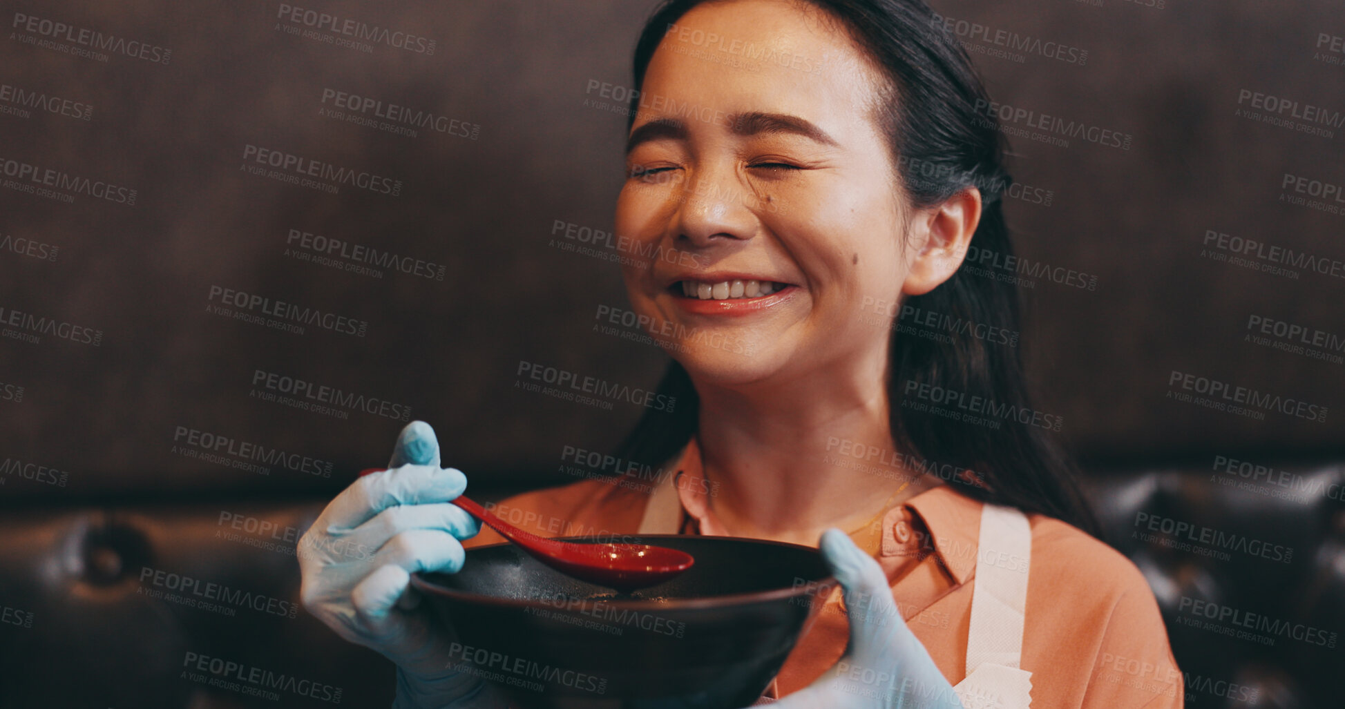
<path id="1" fill-rule="evenodd" d="M 920 0 L 659 8 L 635 52 L 616 231 L 656 256 L 623 274 L 678 402 L 621 457 L 667 475 L 496 513 L 551 535 L 819 545 L 843 595 L 767 690 L 788 708 L 1181 706 L 1153 593 L 1089 535 L 1017 350 L 898 318 L 1018 322 L 1011 285 L 962 268 L 971 248 L 1011 252 L 1009 175 L 985 90 L 936 27 Z M 457 570 L 459 539 L 499 541 L 451 505 L 465 484 L 413 424 L 391 470 L 303 539 L 305 607 L 398 665 L 398 706 L 492 701 L 434 662 L 443 640 L 406 589 Z M 342 544 L 377 553 L 354 564 Z M 857 667 L 893 679 L 874 693 Z"/>

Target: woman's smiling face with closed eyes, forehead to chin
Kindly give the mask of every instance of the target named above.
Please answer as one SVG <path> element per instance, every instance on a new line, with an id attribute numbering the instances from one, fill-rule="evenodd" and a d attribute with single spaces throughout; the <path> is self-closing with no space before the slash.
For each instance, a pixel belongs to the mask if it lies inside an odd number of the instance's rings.
<path id="1" fill-rule="evenodd" d="M 886 359 L 919 249 L 874 120 L 881 78 L 826 20 L 698 5 L 650 62 L 616 233 L 632 307 L 698 381 Z"/>

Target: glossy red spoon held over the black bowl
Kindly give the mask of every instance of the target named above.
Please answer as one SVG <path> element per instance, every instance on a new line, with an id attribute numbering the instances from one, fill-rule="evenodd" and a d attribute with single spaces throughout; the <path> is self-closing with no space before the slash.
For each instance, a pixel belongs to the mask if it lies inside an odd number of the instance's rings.
<path id="1" fill-rule="evenodd" d="M 385 468 L 369 468 L 360 475 L 382 472 Z M 506 539 L 519 545 L 533 558 L 566 574 L 592 584 L 615 588 L 629 593 L 672 579 L 691 568 L 695 562 L 691 554 L 650 546 L 647 544 L 582 544 L 562 542 L 523 531 L 500 519 L 465 495 L 453 500 L 468 514 L 490 525 Z"/>

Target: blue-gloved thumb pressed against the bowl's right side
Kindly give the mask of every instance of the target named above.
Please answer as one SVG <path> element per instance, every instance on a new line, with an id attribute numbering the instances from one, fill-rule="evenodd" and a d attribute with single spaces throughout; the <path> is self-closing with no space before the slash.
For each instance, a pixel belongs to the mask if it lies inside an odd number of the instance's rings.
<path id="1" fill-rule="evenodd" d="M 892 599 L 882 566 L 839 529 L 822 533 L 822 557 L 845 592 L 850 620 L 850 648 L 857 662 L 869 662 L 890 650 L 893 634 L 911 634 Z"/>

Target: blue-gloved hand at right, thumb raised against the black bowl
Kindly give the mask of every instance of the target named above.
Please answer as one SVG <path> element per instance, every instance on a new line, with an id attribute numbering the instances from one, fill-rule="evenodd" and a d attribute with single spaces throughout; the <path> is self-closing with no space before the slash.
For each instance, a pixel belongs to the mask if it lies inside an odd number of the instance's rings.
<path id="1" fill-rule="evenodd" d="M 892 600 L 882 568 L 838 529 L 822 533 L 822 556 L 845 592 L 846 654 L 776 709 L 963 709 L 952 685 Z"/>

